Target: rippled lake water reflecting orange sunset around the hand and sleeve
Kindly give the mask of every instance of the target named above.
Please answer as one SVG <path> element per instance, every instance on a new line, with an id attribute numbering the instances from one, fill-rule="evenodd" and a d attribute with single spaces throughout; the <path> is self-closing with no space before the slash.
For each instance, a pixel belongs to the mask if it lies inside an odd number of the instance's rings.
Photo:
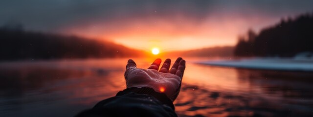
<path id="1" fill-rule="evenodd" d="M 147 68 L 154 59 L 137 59 Z M 162 59 L 165 60 L 165 59 Z M 195 64 L 187 58 L 179 117 L 313 117 L 313 73 Z M 172 59 L 175 61 L 175 59 Z M 0 117 L 71 117 L 126 88 L 127 59 L 0 63 Z"/>

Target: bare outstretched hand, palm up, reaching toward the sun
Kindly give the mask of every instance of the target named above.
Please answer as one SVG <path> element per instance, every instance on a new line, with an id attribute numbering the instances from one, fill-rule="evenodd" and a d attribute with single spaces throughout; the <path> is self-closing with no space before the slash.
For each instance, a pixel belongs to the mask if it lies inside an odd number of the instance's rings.
<path id="1" fill-rule="evenodd" d="M 186 61 L 178 58 L 172 68 L 169 69 L 171 59 L 166 59 L 158 71 L 160 64 L 161 59 L 156 59 L 148 69 L 141 69 L 136 67 L 134 60 L 129 59 L 125 71 L 127 88 L 153 88 L 156 92 L 165 93 L 168 98 L 174 101 L 179 95 Z"/>

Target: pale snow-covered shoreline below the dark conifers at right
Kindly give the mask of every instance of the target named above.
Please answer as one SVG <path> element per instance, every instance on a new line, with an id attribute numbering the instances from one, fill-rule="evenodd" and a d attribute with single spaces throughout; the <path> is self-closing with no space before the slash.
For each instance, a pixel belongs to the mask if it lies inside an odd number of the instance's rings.
<path id="1" fill-rule="evenodd" d="M 207 60 L 197 61 L 194 63 L 248 69 L 308 72 L 313 71 L 313 59 L 254 58 L 235 60 Z"/>

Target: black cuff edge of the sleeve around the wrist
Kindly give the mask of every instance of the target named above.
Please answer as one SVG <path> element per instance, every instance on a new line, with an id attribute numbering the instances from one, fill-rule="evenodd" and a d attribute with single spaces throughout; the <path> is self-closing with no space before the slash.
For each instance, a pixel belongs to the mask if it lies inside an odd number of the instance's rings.
<path id="1" fill-rule="evenodd" d="M 131 87 L 131 88 L 127 88 L 124 89 L 123 91 L 120 91 L 116 94 L 116 96 L 123 96 L 129 92 L 134 92 L 136 94 L 146 94 L 146 95 L 151 95 L 153 97 L 155 97 L 156 99 L 158 99 L 159 101 L 161 101 L 163 104 L 166 104 L 168 106 L 170 106 L 174 111 L 175 111 L 175 107 L 173 102 L 171 101 L 171 99 L 167 98 L 167 96 L 164 93 L 158 93 L 155 90 L 153 90 L 152 88 L 148 88 L 148 87 L 142 87 L 142 88 L 137 88 L 137 87 Z"/>

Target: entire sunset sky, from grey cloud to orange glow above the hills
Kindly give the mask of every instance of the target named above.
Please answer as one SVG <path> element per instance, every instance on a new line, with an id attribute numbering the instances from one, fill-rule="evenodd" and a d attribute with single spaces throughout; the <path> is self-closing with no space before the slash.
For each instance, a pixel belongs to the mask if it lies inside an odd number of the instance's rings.
<path id="1" fill-rule="evenodd" d="M 313 12 L 313 0 L 1 0 L 0 26 L 160 51 L 233 46 L 248 29 Z"/>

